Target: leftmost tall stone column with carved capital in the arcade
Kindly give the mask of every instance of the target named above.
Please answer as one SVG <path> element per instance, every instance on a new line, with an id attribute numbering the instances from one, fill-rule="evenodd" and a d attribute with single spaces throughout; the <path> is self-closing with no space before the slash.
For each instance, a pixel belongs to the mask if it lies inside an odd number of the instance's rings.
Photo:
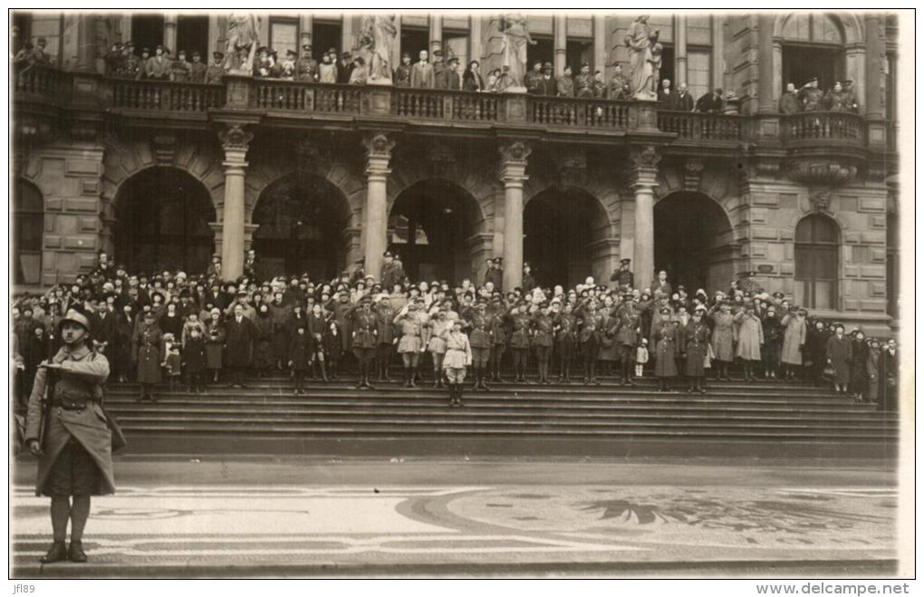
<path id="1" fill-rule="evenodd" d="M 218 133 L 225 150 L 225 204 L 222 220 L 222 274 L 234 280 L 244 273 L 244 173 L 253 133 L 243 125 L 229 124 Z"/>

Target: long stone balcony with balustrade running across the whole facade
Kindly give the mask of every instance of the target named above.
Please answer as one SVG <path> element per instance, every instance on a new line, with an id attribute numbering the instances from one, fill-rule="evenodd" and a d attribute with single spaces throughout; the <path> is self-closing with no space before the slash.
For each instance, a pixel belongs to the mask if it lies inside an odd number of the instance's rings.
<path id="1" fill-rule="evenodd" d="M 873 154 L 894 151 L 889 147 L 894 123 L 847 113 L 700 114 L 659 110 L 646 102 L 236 76 L 225 77 L 221 85 L 202 85 L 17 65 L 14 99 L 20 136 L 55 128 L 61 116 L 78 112 L 80 118 L 113 119 L 128 128 L 196 130 L 210 128 L 213 121 L 238 120 L 261 128 L 382 128 L 581 144 L 653 142 L 681 154 L 695 150 L 734 156 L 766 146 L 784 151 L 788 159 L 834 154 L 851 163 L 864 160 L 870 148 Z M 27 130 L 19 130 L 22 126 Z M 773 131 L 770 136 L 767 130 Z"/>

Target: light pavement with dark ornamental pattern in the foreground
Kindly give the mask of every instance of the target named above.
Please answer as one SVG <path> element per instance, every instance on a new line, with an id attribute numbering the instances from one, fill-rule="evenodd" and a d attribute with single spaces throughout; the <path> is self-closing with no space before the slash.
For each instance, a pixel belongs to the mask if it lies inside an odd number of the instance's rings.
<path id="1" fill-rule="evenodd" d="M 896 495 L 893 486 L 866 483 L 122 486 L 93 500 L 85 539 L 90 564 L 41 567 L 48 501 L 18 484 L 12 572 L 529 576 L 793 566 L 890 574 Z"/>

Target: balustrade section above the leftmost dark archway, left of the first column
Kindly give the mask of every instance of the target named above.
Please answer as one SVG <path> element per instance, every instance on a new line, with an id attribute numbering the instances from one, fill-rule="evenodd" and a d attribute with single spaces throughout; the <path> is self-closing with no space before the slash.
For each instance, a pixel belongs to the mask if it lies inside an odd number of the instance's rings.
<path id="1" fill-rule="evenodd" d="M 156 112 L 205 112 L 225 104 L 224 85 L 110 79 L 112 107 Z"/>

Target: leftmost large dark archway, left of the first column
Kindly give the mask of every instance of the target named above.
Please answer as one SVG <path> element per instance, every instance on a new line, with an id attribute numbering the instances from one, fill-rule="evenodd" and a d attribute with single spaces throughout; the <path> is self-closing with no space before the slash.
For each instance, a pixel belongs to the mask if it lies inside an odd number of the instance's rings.
<path id="1" fill-rule="evenodd" d="M 144 170 L 116 194 L 116 261 L 133 272 L 205 272 L 214 221 L 212 197 L 195 177 L 172 167 Z"/>

